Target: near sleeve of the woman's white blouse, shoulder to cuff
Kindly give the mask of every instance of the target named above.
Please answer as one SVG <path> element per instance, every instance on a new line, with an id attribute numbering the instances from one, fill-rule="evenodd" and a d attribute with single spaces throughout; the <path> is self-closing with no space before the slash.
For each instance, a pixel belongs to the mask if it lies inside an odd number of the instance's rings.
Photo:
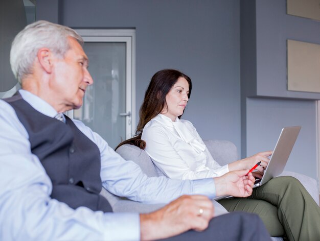
<path id="1" fill-rule="evenodd" d="M 145 128 L 142 139 L 146 141 L 145 151 L 154 164 L 167 177 L 171 179 L 203 179 L 220 176 L 220 168 L 192 171 L 188 162 L 181 157 L 176 147 L 173 146 L 167 134 L 169 130 L 162 126 L 149 126 Z"/>

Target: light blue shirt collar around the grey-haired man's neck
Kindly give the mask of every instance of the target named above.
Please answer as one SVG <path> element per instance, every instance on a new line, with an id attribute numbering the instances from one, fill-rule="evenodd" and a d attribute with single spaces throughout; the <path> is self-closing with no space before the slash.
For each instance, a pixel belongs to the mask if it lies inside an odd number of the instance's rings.
<path id="1" fill-rule="evenodd" d="M 40 113 L 49 117 L 54 117 L 58 113 L 49 103 L 45 102 L 37 95 L 24 89 L 19 89 L 18 91 L 21 94 L 21 97 Z"/>

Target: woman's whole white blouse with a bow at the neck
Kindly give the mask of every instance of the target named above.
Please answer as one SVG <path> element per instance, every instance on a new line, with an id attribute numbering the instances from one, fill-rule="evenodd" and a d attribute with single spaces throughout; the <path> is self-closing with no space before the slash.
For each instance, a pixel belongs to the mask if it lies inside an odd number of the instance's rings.
<path id="1" fill-rule="evenodd" d="M 211 156 L 191 122 L 158 114 L 142 132 L 145 151 L 154 164 L 172 179 L 202 179 L 227 173 Z"/>

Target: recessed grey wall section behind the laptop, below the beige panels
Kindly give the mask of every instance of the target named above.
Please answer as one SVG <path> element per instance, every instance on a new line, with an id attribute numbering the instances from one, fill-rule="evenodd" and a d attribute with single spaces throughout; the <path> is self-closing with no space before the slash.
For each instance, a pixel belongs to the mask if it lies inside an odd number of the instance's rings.
<path id="1" fill-rule="evenodd" d="M 302 126 L 285 167 L 317 179 L 314 101 L 247 99 L 247 155 L 273 150 L 284 126 Z"/>

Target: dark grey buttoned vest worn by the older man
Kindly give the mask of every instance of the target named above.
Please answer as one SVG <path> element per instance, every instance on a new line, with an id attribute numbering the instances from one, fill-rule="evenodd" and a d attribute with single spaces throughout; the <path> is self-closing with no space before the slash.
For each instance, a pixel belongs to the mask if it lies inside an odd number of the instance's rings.
<path id="1" fill-rule="evenodd" d="M 86 137 L 66 116 L 66 124 L 35 110 L 17 92 L 4 99 L 15 110 L 24 125 L 36 155 L 50 177 L 51 198 L 70 207 L 85 206 L 94 211 L 112 211 L 108 201 L 99 195 L 101 160 L 97 145 Z"/>

